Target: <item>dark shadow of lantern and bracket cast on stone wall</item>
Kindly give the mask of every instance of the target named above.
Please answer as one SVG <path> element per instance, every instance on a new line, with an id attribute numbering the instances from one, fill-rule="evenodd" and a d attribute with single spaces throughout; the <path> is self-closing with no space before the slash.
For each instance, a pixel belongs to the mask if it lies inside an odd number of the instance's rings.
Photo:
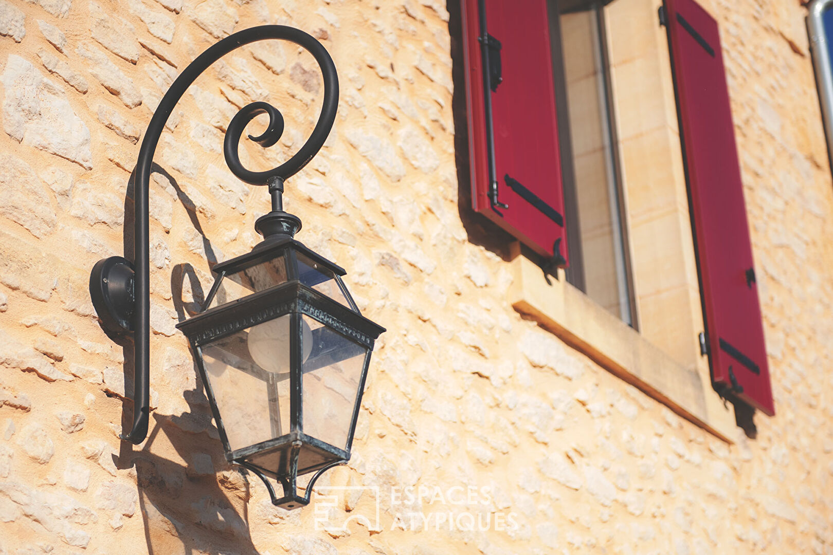
<path id="1" fill-rule="evenodd" d="M 206 252 L 209 266 L 217 263 L 211 241 L 197 221 L 194 203 L 182 191 L 177 180 L 164 168 L 153 164 L 152 172 L 164 176 L 177 197 L 187 209 L 194 229 L 202 237 L 202 247 Z M 132 210 L 133 210 L 133 179 L 127 186 L 125 196 L 125 224 L 124 245 L 125 255 L 132 256 Z M 187 290 L 191 295 L 183 298 L 183 286 L 187 282 Z M 205 302 L 205 293 L 197 273 L 188 263 L 177 264 L 171 272 L 171 293 L 173 308 L 177 312 L 178 321 L 199 312 Z M 107 331 L 107 329 L 104 329 Z M 112 335 L 112 339 L 122 344 L 124 348 L 124 384 L 127 397 L 133 396 L 132 390 L 132 341 L 129 338 Z M 122 443 L 118 457 L 113 457 L 117 468 L 135 468 L 137 478 L 137 496 L 142 513 L 147 553 L 206 553 L 219 555 L 233 551 L 241 555 L 257 555 L 257 548 L 252 543 L 248 532 L 251 512 L 247 506 L 251 498 L 250 483 L 244 473 L 224 474 L 225 478 L 203 475 L 202 471 L 194 472 L 183 464 L 182 460 L 193 458 L 195 455 L 212 460 L 212 465 L 222 456 L 222 443 L 217 429 L 212 425 L 212 414 L 209 402 L 204 395 L 202 380 L 199 378 L 197 364 L 188 364 L 187 369 L 179 369 L 196 378 L 193 389 L 182 389 L 182 397 L 187 404 L 178 414 L 163 414 L 159 409 L 153 412 L 152 429 L 149 430 L 147 440 L 142 450 L 134 452 L 127 442 Z M 170 375 L 168 376 L 170 379 Z M 185 378 L 186 384 L 192 379 Z M 132 423 L 130 414 L 123 414 L 124 425 Z M 183 434 L 183 431 L 186 433 Z M 160 435 L 165 436 L 167 443 L 176 451 L 177 456 L 167 458 L 158 454 L 159 449 L 153 449 L 152 444 Z M 208 437 L 206 437 L 208 436 Z M 163 442 L 164 443 L 164 442 Z M 177 459 L 177 460 L 174 460 Z M 222 468 L 220 471 L 222 473 Z M 218 483 L 219 482 L 219 483 Z M 222 483 L 222 487 L 220 485 Z M 242 501 L 242 503 L 240 503 Z M 242 504 L 242 506 L 241 506 Z M 277 510 L 277 509 L 276 509 Z M 287 518 L 281 513 L 270 517 Z M 184 550 L 184 552 L 183 552 Z"/>

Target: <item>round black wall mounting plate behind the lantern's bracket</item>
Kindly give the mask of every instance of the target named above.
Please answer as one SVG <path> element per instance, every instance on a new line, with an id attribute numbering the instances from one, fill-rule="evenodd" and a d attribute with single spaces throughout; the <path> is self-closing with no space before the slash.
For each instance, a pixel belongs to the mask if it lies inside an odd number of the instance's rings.
<path id="1" fill-rule="evenodd" d="M 135 273 L 130 260 L 111 256 L 98 260 L 90 274 L 90 298 L 107 331 L 125 335 L 133 331 L 136 309 Z"/>

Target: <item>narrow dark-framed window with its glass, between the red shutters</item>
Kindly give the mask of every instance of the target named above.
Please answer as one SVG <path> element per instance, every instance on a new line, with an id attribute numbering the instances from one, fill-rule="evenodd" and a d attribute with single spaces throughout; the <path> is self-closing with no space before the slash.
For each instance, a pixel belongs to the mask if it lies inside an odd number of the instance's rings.
<path id="1" fill-rule="evenodd" d="M 567 218 L 573 255 L 566 279 L 637 328 L 605 7 L 599 0 L 550 2 L 549 13 L 563 60 L 553 61 L 556 91 L 566 98 L 559 121 L 569 129 L 561 151 L 572 165 L 564 194 L 575 209 Z"/>

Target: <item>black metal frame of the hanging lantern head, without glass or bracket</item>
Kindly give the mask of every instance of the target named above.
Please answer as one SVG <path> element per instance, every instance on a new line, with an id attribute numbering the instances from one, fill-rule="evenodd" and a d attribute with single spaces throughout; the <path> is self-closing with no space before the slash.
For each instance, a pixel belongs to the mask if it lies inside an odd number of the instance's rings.
<path id="1" fill-rule="evenodd" d="M 327 295 L 323 295 L 302 283 L 300 280 L 301 276 L 297 271 L 297 253 L 307 256 L 317 265 L 321 265 L 332 273 L 333 279 L 336 281 L 339 290 L 347 301 L 347 305 L 342 305 L 337 300 L 333 300 Z M 240 300 L 232 300 L 207 309 L 207 306 L 212 304 L 212 300 L 217 295 L 222 280 L 226 279 L 227 276 L 234 275 L 238 271 L 245 270 L 267 260 L 282 258 L 284 255 L 287 256 L 287 281 L 247 295 Z M 305 505 L 309 503 L 312 484 L 315 483 L 317 478 L 328 468 L 345 463 L 350 459 L 353 434 L 355 433 L 358 412 L 361 405 L 362 391 L 364 390 L 365 380 L 367 379 L 367 365 L 369 364 L 374 341 L 384 329 L 361 315 L 355 301 L 352 300 L 352 295 L 350 295 L 350 292 L 341 280 L 341 276 L 346 274 L 345 270 L 333 264 L 330 260 L 318 255 L 315 251 L 308 249 L 297 240 L 293 240 L 288 235 L 282 237 L 272 236 L 272 240 L 264 241 L 261 245 L 255 247 L 252 252 L 221 262 L 215 265 L 212 271 L 217 275 L 217 278 L 202 305 L 202 312 L 180 322 L 177 324 L 177 328 L 182 330 L 191 342 L 202 383 L 205 385 L 208 398 L 211 401 L 212 414 L 215 422 L 217 422 L 217 431 L 225 449 L 226 458 L 230 463 L 237 463 L 257 474 L 267 484 L 267 488 L 272 495 L 272 503 L 284 508 L 295 508 Z M 207 369 L 202 356 L 202 347 L 218 339 L 223 339 L 237 334 L 237 332 L 242 330 L 252 328 L 252 326 L 274 320 L 282 315 L 291 315 L 292 322 L 290 329 L 293 330 L 292 333 L 297 333 L 300 330 L 301 317 L 302 315 L 307 315 L 338 334 L 341 334 L 348 341 L 355 344 L 358 349 L 365 349 L 363 354 L 364 359 L 362 361 L 362 375 L 357 384 L 356 398 L 353 399 L 350 427 L 347 429 L 345 448 L 338 448 L 335 445 L 327 444 L 321 439 L 317 439 L 303 431 L 304 402 L 302 381 L 301 379 L 295 379 L 294 382 L 291 381 L 290 383 L 290 432 L 244 448 L 232 449 L 225 426 L 223 425 L 222 416 L 219 413 L 219 403 L 217 403 L 212 389 L 212 381 L 207 375 Z M 291 349 L 290 374 L 297 372 L 297 378 L 300 378 L 307 371 L 300 369 L 300 344 L 293 342 Z M 267 374 L 267 371 L 264 370 L 263 374 Z M 261 377 L 261 379 L 263 378 Z M 291 452 L 287 455 L 286 472 L 276 473 L 247 460 L 249 456 L 254 454 L 266 455 L 272 451 L 286 450 L 287 446 L 291 447 Z M 313 451 L 317 451 L 325 457 L 330 456 L 337 460 L 333 462 L 323 460 L 321 463 L 313 464 L 305 468 L 298 468 L 302 448 L 312 448 Z M 310 483 L 307 484 L 307 491 L 304 497 L 300 497 L 295 493 L 297 489 L 295 480 L 299 472 L 316 472 L 312 476 Z M 282 483 L 282 498 L 276 498 L 271 483 L 267 481 L 264 475 L 275 478 L 278 482 Z"/>

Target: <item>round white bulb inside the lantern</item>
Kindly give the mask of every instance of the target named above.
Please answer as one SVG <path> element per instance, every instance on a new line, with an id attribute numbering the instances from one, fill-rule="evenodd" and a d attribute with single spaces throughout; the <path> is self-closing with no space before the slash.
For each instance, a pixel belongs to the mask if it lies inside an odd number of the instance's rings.
<path id="1" fill-rule="evenodd" d="M 275 374 L 289 372 L 289 345 L 291 317 L 281 316 L 254 326 L 249 330 L 249 354 L 262 369 Z M 302 331 L 302 362 L 306 362 L 312 353 L 312 330 L 303 319 Z"/>

